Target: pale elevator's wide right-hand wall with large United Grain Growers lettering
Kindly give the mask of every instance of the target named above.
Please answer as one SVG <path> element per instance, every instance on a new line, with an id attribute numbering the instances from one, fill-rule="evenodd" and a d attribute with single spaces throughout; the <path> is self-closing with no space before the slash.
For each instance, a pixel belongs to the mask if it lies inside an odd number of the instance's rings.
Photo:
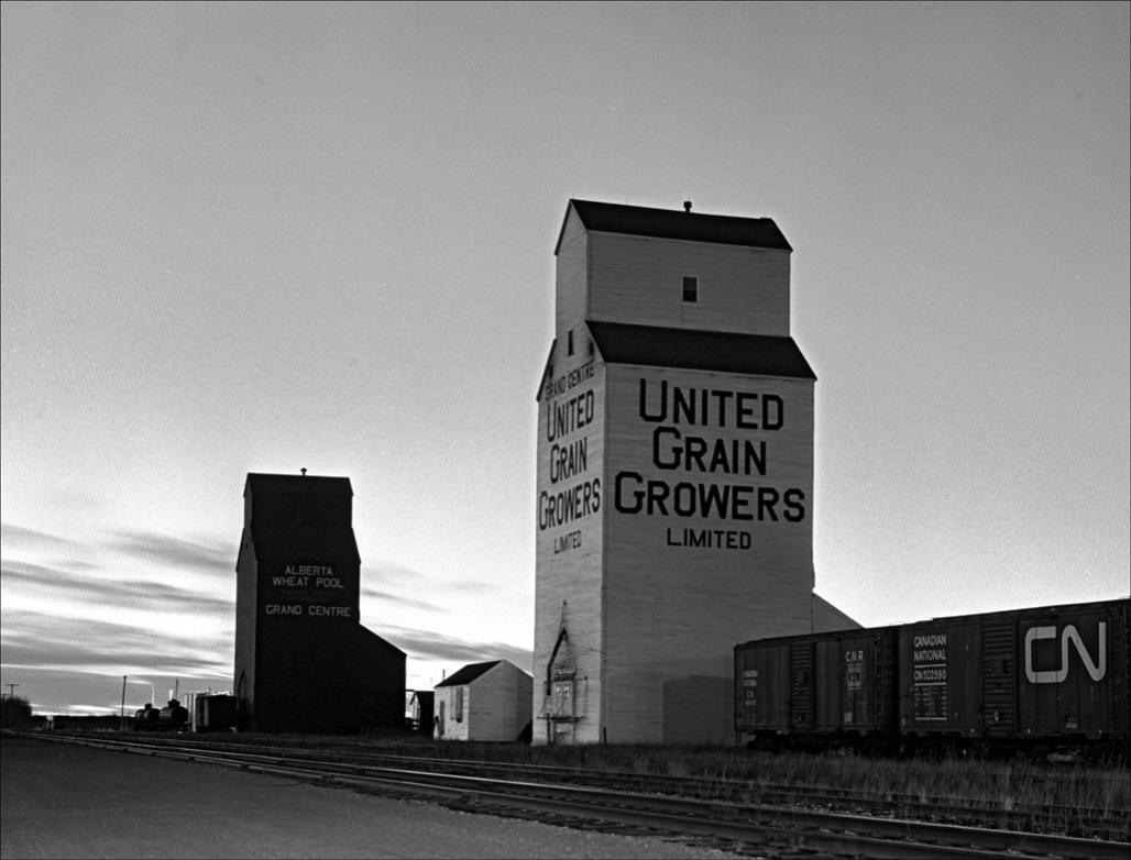
<path id="1" fill-rule="evenodd" d="M 742 391 L 779 397 L 779 429 L 689 426 L 640 417 L 640 380 L 684 390 Z M 728 741 L 732 720 L 733 649 L 753 636 L 811 629 L 813 383 L 810 381 L 671 372 L 618 366 L 607 373 L 605 516 L 605 728 L 610 742 Z M 671 391 L 671 388 L 670 388 Z M 729 414 L 733 422 L 733 410 Z M 671 416 L 668 416 L 671 418 Z M 724 422 L 724 424 L 731 424 Z M 664 428 L 659 436 L 657 428 Z M 675 433 L 679 433 L 676 442 Z M 766 443 L 765 475 L 659 469 L 672 444 L 689 437 Z M 666 452 L 665 452 L 666 451 Z M 618 481 L 625 477 L 621 498 Z M 710 487 L 769 487 L 779 496 L 803 494 L 804 515 L 777 521 L 689 513 L 674 507 L 630 513 L 642 481 Z M 696 490 L 698 492 L 698 489 Z M 757 490 L 754 490 L 757 492 Z M 684 494 L 690 497 L 690 492 Z M 751 496 L 754 497 L 754 496 Z M 672 503 L 668 502 L 668 505 Z M 619 510 L 621 509 L 621 510 Z M 732 511 L 733 512 L 733 511 Z M 740 510 L 757 516 L 757 504 Z M 794 516 L 796 513 L 793 512 Z M 688 531 L 684 531 L 688 530 Z M 724 532 L 749 548 L 687 546 L 689 539 Z M 694 537 L 692 537 L 694 536 Z M 743 537 L 748 536 L 748 537 Z"/>

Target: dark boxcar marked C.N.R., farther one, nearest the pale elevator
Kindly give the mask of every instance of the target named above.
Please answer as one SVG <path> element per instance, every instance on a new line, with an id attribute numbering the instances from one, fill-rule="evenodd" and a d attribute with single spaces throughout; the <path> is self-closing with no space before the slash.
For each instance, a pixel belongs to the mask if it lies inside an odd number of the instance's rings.
<path id="1" fill-rule="evenodd" d="M 735 729 L 758 746 L 887 746 L 896 732 L 896 629 L 783 636 L 734 650 Z"/>

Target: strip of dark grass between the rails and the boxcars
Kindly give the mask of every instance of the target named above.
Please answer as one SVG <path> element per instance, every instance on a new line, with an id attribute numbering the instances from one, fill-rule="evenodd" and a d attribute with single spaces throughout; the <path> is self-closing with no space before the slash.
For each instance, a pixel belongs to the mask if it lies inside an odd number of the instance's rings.
<path id="1" fill-rule="evenodd" d="M 375 744 L 310 736 L 127 737 L 188 745 L 224 744 L 232 749 L 292 756 L 347 756 L 373 765 L 498 779 L 517 773 L 543 782 L 1031 833 L 1116 841 L 1126 840 L 1131 833 L 1126 768 L 1039 767 L 1025 762 L 892 762 L 655 747 L 532 749 L 451 742 Z M 530 761 L 534 757 L 541 761 Z M 682 775 L 673 775 L 673 771 Z M 691 773 L 699 775 L 688 775 Z"/>

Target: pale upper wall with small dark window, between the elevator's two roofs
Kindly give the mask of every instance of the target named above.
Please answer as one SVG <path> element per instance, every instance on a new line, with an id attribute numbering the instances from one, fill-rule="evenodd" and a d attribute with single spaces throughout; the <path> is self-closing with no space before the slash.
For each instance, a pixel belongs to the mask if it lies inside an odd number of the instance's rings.
<path id="1" fill-rule="evenodd" d="M 586 316 L 748 335 L 789 335 L 789 252 L 610 233 L 589 235 Z M 699 299 L 683 301 L 683 276 Z"/>

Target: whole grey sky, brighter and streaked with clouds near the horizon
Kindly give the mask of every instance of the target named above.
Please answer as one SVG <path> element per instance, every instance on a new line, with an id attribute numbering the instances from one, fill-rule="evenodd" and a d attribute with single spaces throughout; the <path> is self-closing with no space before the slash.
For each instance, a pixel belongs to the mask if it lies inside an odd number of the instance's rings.
<path id="1" fill-rule="evenodd" d="M 244 481 L 303 468 L 411 688 L 529 670 L 571 198 L 789 241 L 821 597 L 1128 596 L 1129 9 L 6 0 L 5 694 L 230 689 Z"/>

